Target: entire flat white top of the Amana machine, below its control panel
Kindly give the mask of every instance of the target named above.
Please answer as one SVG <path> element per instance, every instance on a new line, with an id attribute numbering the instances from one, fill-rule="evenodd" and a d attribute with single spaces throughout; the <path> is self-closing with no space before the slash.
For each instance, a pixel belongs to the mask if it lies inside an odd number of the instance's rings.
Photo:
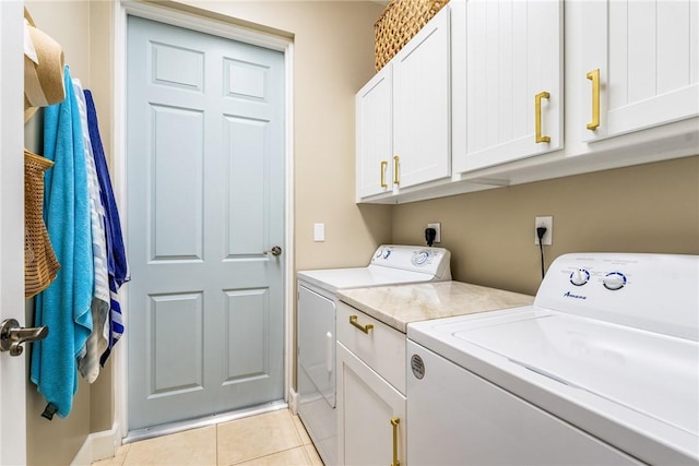
<path id="1" fill-rule="evenodd" d="M 692 339 L 535 306 L 415 322 L 407 337 L 642 461 L 699 461 Z"/>

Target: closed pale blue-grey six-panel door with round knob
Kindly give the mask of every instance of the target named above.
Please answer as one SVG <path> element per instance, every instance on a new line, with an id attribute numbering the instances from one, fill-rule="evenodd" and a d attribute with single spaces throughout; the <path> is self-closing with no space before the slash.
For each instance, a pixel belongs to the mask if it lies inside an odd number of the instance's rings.
<path id="1" fill-rule="evenodd" d="M 127 63 L 129 429 L 281 399 L 284 55 L 129 16 Z"/>

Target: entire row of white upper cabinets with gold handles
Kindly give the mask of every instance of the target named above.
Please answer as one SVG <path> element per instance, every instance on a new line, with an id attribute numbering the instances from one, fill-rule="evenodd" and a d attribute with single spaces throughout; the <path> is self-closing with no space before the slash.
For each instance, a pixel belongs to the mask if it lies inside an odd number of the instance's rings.
<path id="1" fill-rule="evenodd" d="M 699 0 L 450 0 L 357 94 L 357 202 L 698 153 Z"/>

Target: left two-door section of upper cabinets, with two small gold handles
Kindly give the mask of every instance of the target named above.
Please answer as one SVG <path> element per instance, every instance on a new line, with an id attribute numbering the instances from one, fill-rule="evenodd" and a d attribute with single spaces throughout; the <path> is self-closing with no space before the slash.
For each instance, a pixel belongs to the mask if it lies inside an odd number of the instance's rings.
<path id="1" fill-rule="evenodd" d="M 448 5 L 356 94 L 357 201 L 451 175 Z"/>

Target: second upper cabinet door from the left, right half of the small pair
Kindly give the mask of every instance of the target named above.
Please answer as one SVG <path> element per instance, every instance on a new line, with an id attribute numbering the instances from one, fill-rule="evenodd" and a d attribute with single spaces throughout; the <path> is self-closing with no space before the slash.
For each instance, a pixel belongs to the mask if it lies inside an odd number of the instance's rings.
<path id="1" fill-rule="evenodd" d="M 447 5 L 392 60 L 400 188 L 451 175 L 449 13 Z"/>

